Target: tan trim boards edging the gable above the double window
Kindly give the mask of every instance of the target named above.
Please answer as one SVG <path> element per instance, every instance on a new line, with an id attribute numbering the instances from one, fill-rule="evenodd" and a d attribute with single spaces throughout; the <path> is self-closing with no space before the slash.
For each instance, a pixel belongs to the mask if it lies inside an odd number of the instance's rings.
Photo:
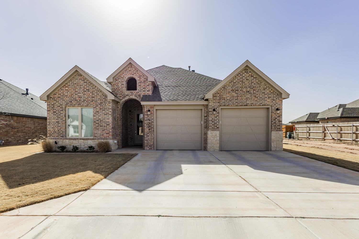
<path id="1" fill-rule="evenodd" d="M 47 91 L 45 91 L 45 93 L 40 96 L 40 100 L 48 101 L 50 99 L 50 96 L 53 95 L 56 91 L 58 91 L 63 85 L 65 85 L 65 83 L 69 81 L 72 77 L 74 77 L 77 72 L 83 75 L 88 81 L 93 83 L 95 86 L 98 87 L 98 89 L 100 89 L 104 94 L 106 94 L 108 100 L 115 100 L 117 102 L 120 102 L 120 99 L 112 95 L 111 92 L 106 90 L 100 83 L 95 81 L 78 66 L 74 66 L 73 68 L 71 68 L 71 70 L 68 71 L 64 76 L 62 76 L 60 80 L 56 81 L 55 84 L 53 84 Z"/>

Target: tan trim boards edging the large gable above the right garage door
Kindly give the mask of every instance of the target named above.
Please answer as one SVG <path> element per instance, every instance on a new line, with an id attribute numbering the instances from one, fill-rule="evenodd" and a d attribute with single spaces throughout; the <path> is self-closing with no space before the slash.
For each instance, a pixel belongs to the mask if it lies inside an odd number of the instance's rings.
<path id="1" fill-rule="evenodd" d="M 286 92 L 282 87 L 277 85 L 271 78 L 266 76 L 262 71 L 260 71 L 257 67 L 255 67 L 250 61 L 245 61 L 241 66 L 239 66 L 236 70 L 230 73 L 222 82 L 220 82 L 216 87 L 214 87 L 211 91 L 209 91 L 204 99 L 211 99 L 213 94 L 217 92 L 222 86 L 224 86 L 229 80 L 231 80 L 234 76 L 236 76 L 239 72 L 241 72 L 244 68 L 250 68 L 251 72 L 254 73 L 258 78 L 264 81 L 269 87 L 271 87 L 275 92 L 279 94 L 281 100 L 289 98 L 289 93 Z"/>

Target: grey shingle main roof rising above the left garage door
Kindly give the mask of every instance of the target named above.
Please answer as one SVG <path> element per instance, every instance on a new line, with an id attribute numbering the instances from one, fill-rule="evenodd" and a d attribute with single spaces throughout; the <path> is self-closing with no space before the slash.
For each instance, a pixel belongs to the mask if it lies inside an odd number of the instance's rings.
<path id="1" fill-rule="evenodd" d="M 221 80 L 183 68 L 158 66 L 147 70 L 158 83 L 152 95 L 144 95 L 146 101 L 204 101 L 204 95 Z"/>

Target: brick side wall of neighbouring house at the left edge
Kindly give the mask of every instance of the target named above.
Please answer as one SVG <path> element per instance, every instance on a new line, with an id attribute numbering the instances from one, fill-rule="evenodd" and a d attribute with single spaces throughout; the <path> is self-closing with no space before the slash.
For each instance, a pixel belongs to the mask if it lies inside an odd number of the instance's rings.
<path id="1" fill-rule="evenodd" d="M 11 116 L 13 122 L 0 127 L 4 145 L 27 144 L 29 139 L 47 136 L 46 119 Z"/>

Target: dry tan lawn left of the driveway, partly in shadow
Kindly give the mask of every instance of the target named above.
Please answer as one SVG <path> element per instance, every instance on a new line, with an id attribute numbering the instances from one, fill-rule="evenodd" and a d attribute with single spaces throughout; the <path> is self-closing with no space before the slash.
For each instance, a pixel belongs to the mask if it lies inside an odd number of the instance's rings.
<path id="1" fill-rule="evenodd" d="M 0 212 L 87 190 L 136 155 L 40 151 L 0 147 Z"/>

